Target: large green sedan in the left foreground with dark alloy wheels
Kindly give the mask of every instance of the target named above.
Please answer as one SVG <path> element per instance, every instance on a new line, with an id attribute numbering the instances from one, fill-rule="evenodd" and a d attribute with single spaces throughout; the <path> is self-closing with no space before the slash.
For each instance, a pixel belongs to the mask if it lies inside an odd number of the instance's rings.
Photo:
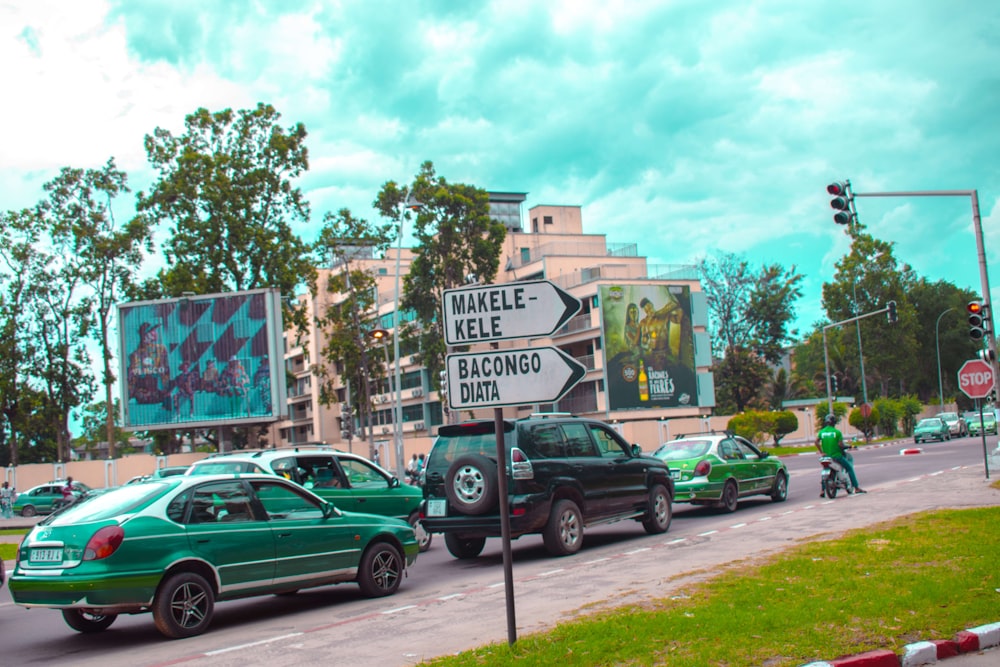
<path id="1" fill-rule="evenodd" d="M 217 602 L 356 582 L 395 593 L 419 547 L 405 522 L 341 512 L 263 475 L 169 477 L 85 498 L 18 549 L 16 604 L 62 611 L 79 632 L 152 612 L 170 638 L 204 632 Z"/>

